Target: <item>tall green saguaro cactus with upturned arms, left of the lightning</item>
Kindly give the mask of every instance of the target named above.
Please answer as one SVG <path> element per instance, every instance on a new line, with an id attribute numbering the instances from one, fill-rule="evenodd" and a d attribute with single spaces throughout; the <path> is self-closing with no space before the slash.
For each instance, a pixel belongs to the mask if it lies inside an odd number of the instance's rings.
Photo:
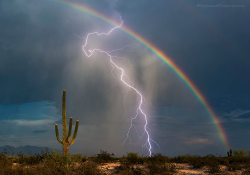
<path id="1" fill-rule="evenodd" d="M 68 156 L 69 145 L 72 145 L 75 142 L 75 140 L 76 140 L 76 135 L 77 135 L 79 121 L 76 120 L 75 131 L 74 131 L 72 139 L 70 140 L 71 131 L 72 131 L 72 121 L 73 121 L 73 118 L 70 117 L 70 121 L 69 121 L 69 133 L 68 133 L 68 136 L 67 136 L 66 90 L 63 90 L 63 96 L 62 96 L 62 118 L 63 118 L 63 140 L 61 140 L 60 137 L 59 137 L 59 132 L 58 132 L 58 126 L 57 126 L 57 124 L 55 125 L 56 138 L 57 138 L 58 142 L 63 145 L 63 155 L 64 156 Z"/>

